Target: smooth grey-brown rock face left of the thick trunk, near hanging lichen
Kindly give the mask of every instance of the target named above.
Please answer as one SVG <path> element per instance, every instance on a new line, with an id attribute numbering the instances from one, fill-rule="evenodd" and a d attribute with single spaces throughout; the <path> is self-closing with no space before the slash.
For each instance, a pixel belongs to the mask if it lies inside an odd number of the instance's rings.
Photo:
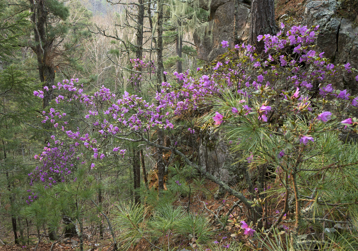
<path id="1" fill-rule="evenodd" d="M 201 6 L 209 9 L 205 4 Z M 222 40 L 228 41 L 230 47 L 234 47 L 235 43 L 247 40 L 249 22 L 249 5 L 238 0 L 211 1 L 210 21 L 194 32 L 198 58 L 210 62 L 226 52 L 227 49 L 221 47 Z"/>

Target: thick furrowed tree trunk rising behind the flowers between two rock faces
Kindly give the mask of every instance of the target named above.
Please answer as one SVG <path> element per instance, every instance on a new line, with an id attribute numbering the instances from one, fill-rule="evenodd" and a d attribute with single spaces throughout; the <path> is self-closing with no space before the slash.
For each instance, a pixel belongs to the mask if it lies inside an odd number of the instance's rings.
<path id="1" fill-rule="evenodd" d="M 262 40 L 257 42 L 257 36 L 276 34 L 274 7 L 274 0 L 251 0 L 251 23 L 248 42 L 256 47 L 258 53 L 263 51 L 264 43 Z"/>

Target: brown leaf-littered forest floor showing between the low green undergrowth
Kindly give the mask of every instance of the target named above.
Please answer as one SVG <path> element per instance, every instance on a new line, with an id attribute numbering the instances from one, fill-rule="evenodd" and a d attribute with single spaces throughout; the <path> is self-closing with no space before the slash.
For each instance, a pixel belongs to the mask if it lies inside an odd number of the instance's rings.
<path id="1" fill-rule="evenodd" d="M 243 235 L 243 233 L 237 235 L 236 237 L 232 237 L 231 235 L 234 233 L 234 230 L 238 230 L 232 224 L 223 225 L 222 221 L 220 222 L 220 218 L 222 216 L 228 215 L 229 218 L 239 218 L 243 220 L 244 213 L 238 210 L 238 207 L 234 208 L 231 213 L 228 213 L 231 210 L 233 204 L 237 201 L 237 199 L 233 196 L 228 196 L 228 194 L 224 195 L 221 199 L 214 199 L 213 192 L 218 189 L 218 186 L 214 183 L 207 183 L 205 185 L 206 192 L 197 191 L 195 194 L 190 196 L 189 198 L 182 198 L 178 196 L 178 201 L 174 203 L 174 206 L 182 206 L 184 208 L 188 208 L 191 213 L 194 214 L 205 214 L 207 218 L 210 218 L 210 227 L 213 231 L 213 238 L 211 240 L 212 243 L 217 243 L 218 246 L 225 247 L 227 244 L 233 245 L 235 243 L 243 243 L 250 247 L 250 244 L 247 241 L 247 237 Z M 211 196 L 208 196 L 208 191 L 211 193 Z M 245 193 L 245 191 L 243 191 Z M 282 197 L 283 200 L 283 197 Z M 282 201 L 283 202 L 283 201 Z M 276 201 L 275 203 L 277 206 L 272 208 L 272 210 L 280 210 L 283 207 L 283 203 Z M 281 205 L 282 204 L 282 205 Z M 294 222 L 290 220 L 290 218 L 294 217 L 294 215 L 287 215 L 287 219 L 284 219 L 281 223 L 280 228 L 282 230 L 288 231 L 294 227 Z M 286 218 L 286 217 L 285 217 Z M 240 221 L 239 220 L 239 221 Z M 272 224 L 272 222 L 269 222 Z M 90 227 L 87 226 L 85 228 L 84 233 L 89 234 L 90 236 Z M 2 240 L 8 245 L 0 246 L 0 251 L 50 251 L 52 247 L 52 251 L 65 251 L 65 250 L 74 250 L 79 251 L 79 238 L 74 236 L 73 238 L 64 238 L 52 246 L 51 241 L 48 240 L 47 237 L 42 238 L 42 241 L 37 246 L 37 241 L 34 240 L 33 244 L 30 245 L 14 245 L 13 236 L 11 235 L 11 231 L 8 231 L 8 235 L 3 238 Z M 118 236 L 118 233 L 116 233 Z M 83 242 L 83 250 L 84 251 L 110 251 L 113 250 L 112 240 L 110 238 L 110 233 L 108 230 L 104 231 L 104 239 L 101 240 L 98 234 L 89 240 L 85 238 Z M 4 233 L 2 233 L 4 236 Z M 159 239 L 156 242 L 156 245 L 161 245 L 162 243 L 166 242 L 167 240 L 164 238 Z M 190 243 L 193 243 L 192 240 L 189 240 L 187 237 L 182 236 L 182 238 L 178 238 L 176 241 L 173 241 L 173 247 L 177 247 L 178 250 L 195 250 L 195 244 L 192 247 Z M 205 244 L 203 244 L 205 250 Z M 143 238 L 136 243 L 135 246 L 129 248 L 129 251 L 140 251 L 140 250 L 151 250 L 152 247 L 150 244 L 144 240 Z M 248 248 L 251 249 L 251 248 Z"/>

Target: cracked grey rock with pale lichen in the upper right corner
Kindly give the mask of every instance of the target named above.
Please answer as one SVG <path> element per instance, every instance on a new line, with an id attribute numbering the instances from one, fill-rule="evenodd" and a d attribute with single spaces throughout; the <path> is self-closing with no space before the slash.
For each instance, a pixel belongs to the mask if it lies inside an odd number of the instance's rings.
<path id="1" fill-rule="evenodd" d="M 309 1 L 306 4 L 303 25 L 319 25 L 316 51 L 325 52 L 326 58 L 334 64 L 350 63 L 358 68 L 358 28 L 353 22 L 340 18 L 335 13 L 340 2 L 337 0 Z M 358 85 L 354 77 L 345 74 L 338 79 L 336 88 L 347 89 L 352 95 L 358 93 Z"/>

